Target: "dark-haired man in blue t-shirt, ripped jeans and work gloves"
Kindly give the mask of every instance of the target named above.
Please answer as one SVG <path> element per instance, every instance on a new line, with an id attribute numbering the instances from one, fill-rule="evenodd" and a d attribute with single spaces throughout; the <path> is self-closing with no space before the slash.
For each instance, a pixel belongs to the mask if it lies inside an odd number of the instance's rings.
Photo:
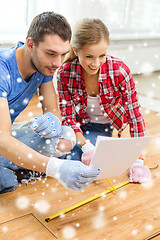
<path id="1" fill-rule="evenodd" d="M 0 193 L 17 186 L 18 169 L 54 177 L 65 187 L 82 190 L 99 174 L 79 161 L 58 159 L 75 144 L 73 130 L 61 126 L 52 76 L 69 51 L 71 29 L 54 12 L 36 16 L 25 44 L 0 50 Z M 21 128 L 15 118 L 39 88 L 43 115 Z"/>

